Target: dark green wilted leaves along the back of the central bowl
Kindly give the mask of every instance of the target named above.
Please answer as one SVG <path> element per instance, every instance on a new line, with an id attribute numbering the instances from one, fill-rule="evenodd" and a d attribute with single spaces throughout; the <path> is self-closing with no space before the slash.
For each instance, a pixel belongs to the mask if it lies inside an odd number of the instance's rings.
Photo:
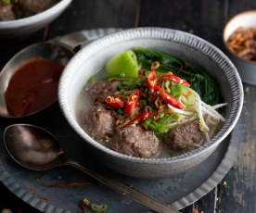
<path id="1" fill-rule="evenodd" d="M 158 72 L 173 72 L 174 75 L 188 81 L 201 99 L 209 105 L 221 102 L 221 94 L 217 83 L 204 70 L 198 69 L 174 56 L 147 48 L 136 47 L 134 53 L 143 69 L 150 69 L 151 63 L 160 62 Z"/>

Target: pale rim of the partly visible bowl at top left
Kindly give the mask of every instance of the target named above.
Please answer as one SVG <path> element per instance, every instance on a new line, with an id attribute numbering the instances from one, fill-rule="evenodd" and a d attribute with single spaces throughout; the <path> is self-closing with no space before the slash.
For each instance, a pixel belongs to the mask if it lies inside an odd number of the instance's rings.
<path id="1" fill-rule="evenodd" d="M 47 8 L 45 11 L 40 12 L 38 14 L 32 15 L 30 17 L 22 18 L 22 19 L 14 19 L 14 20 L 5 20 L 0 21 L 0 30 L 1 29 L 12 29 L 15 27 L 23 27 L 26 25 L 31 25 L 32 23 L 38 22 L 39 20 L 45 19 L 47 17 L 51 17 L 56 11 L 69 6 L 72 0 L 60 0 L 54 6 Z"/>

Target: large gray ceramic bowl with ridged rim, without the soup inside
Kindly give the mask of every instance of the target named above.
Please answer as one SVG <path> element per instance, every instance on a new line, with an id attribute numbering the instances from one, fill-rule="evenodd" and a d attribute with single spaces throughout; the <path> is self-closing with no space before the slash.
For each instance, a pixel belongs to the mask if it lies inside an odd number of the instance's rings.
<path id="1" fill-rule="evenodd" d="M 128 157 L 97 143 L 83 131 L 75 117 L 75 104 L 84 83 L 102 69 L 110 57 L 135 46 L 157 49 L 206 69 L 219 83 L 228 103 L 224 126 L 210 142 L 178 157 Z M 59 82 L 59 104 L 71 127 L 84 142 L 96 147 L 96 157 L 110 169 L 135 178 L 161 178 L 186 171 L 209 157 L 233 130 L 243 105 L 243 88 L 237 69 L 214 45 L 184 31 L 137 28 L 120 31 L 85 46 L 74 56 Z"/>

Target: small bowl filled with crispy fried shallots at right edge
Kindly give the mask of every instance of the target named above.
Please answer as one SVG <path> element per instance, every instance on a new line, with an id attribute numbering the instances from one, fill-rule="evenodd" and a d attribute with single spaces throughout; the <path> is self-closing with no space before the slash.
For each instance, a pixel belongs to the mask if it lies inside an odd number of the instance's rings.
<path id="1" fill-rule="evenodd" d="M 223 39 L 242 81 L 256 85 L 256 10 L 230 19 L 224 27 Z"/>

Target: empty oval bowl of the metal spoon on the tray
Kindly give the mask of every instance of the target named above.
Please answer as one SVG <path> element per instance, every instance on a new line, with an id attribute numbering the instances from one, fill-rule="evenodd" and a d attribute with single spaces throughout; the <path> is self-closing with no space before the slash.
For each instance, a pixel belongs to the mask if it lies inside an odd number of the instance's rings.
<path id="1" fill-rule="evenodd" d="M 66 161 L 55 137 L 40 127 L 15 124 L 4 135 L 9 156 L 24 168 L 52 169 Z"/>

